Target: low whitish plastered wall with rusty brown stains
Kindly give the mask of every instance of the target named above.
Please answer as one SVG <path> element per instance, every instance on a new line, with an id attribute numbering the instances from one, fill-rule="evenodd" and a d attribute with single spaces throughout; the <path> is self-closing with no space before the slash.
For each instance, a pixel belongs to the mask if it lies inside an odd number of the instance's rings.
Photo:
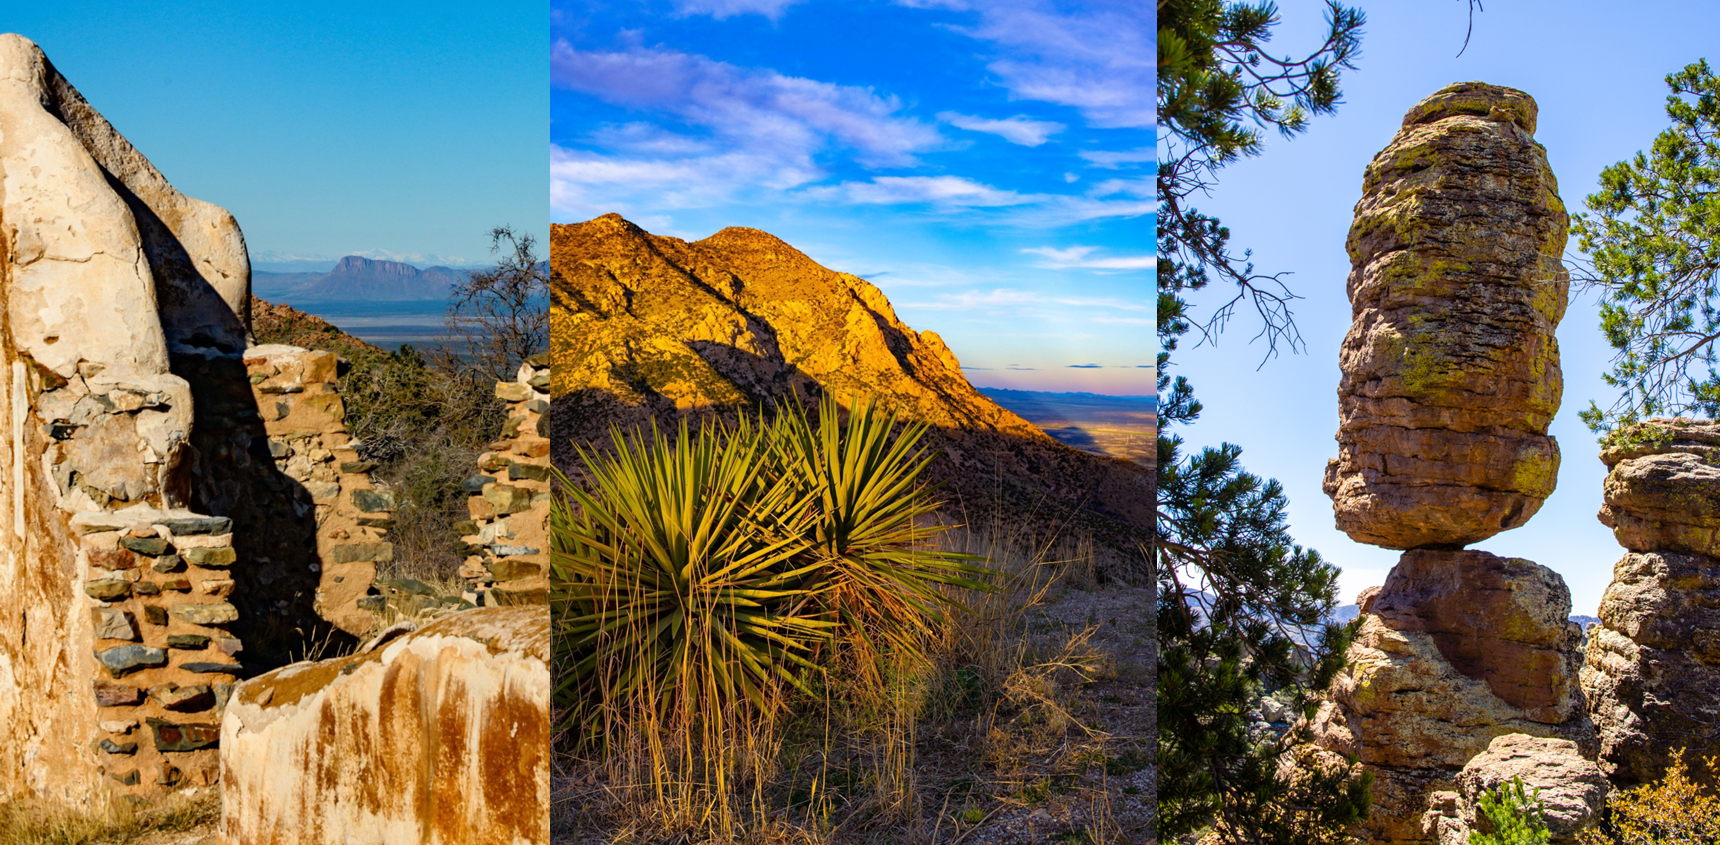
<path id="1" fill-rule="evenodd" d="M 225 845 L 547 845 L 549 609 L 478 608 L 244 682 Z"/>

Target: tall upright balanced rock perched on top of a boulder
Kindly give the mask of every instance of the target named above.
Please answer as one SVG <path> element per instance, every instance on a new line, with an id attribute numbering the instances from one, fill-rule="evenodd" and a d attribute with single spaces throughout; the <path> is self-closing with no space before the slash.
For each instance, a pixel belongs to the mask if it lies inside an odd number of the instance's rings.
<path id="1" fill-rule="evenodd" d="M 1324 480 L 1357 542 L 1462 547 L 1553 492 L 1567 217 L 1534 120 L 1522 91 L 1452 84 L 1367 165 Z"/>

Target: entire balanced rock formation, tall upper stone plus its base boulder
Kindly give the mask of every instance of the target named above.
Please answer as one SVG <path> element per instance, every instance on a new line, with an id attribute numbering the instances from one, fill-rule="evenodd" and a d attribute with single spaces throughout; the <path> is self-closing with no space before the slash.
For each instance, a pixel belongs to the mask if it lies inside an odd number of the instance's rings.
<path id="1" fill-rule="evenodd" d="M 1433 843 L 1459 773 L 1496 737 L 1596 749 L 1563 578 L 1462 551 L 1527 521 L 1558 473 L 1565 210 L 1534 120 L 1522 91 L 1440 89 L 1367 165 L 1350 229 L 1324 489 L 1352 539 L 1409 551 L 1362 594 L 1311 728 L 1374 773 L 1371 843 Z"/>

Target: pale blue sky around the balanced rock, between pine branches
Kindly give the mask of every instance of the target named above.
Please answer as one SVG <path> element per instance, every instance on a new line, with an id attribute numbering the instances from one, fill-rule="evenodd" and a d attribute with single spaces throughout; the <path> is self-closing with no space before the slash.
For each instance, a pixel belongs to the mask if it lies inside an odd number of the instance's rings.
<path id="1" fill-rule="evenodd" d="M 1321 40 L 1321 3 L 1280 3 L 1285 22 L 1273 53 L 1309 50 Z M 1290 270 L 1307 355 L 1261 365 L 1250 344 L 1257 325 L 1233 324 L 1218 348 L 1180 353 L 1204 401 L 1201 422 L 1180 434 L 1190 444 L 1237 442 L 1244 463 L 1276 477 L 1290 496 L 1297 539 L 1345 568 L 1343 601 L 1381 583 L 1397 552 L 1352 542 L 1333 527 L 1321 473 L 1336 456 L 1338 344 L 1350 324 L 1343 251 L 1362 169 L 1398 129 L 1410 105 L 1445 84 L 1481 79 L 1520 88 L 1539 103 L 1536 138 L 1546 146 L 1560 196 L 1572 213 L 1594 193 L 1603 167 L 1648 150 L 1667 127 L 1665 76 L 1696 59 L 1720 60 L 1720 3 L 1486 3 L 1462 59 L 1465 3 L 1362 2 L 1367 29 L 1359 69 L 1345 74 L 1345 103 L 1316 119 L 1307 134 L 1268 138 L 1266 153 L 1223 170 L 1221 188 L 1201 203 L 1230 225 L 1237 244 L 1254 248 L 1262 270 Z M 1574 256 L 1576 239 L 1570 243 Z M 1197 303 L 1211 303 L 1207 291 Z M 1563 408 L 1553 420 L 1562 465 L 1558 489 L 1526 527 L 1474 547 L 1529 558 L 1565 577 L 1576 613 L 1594 614 L 1612 566 L 1624 554 L 1594 513 L 1605 466 L 1594 435 L 1577 418 L 1589 399 L 1610 404 L 1600 375 L 1612 348 L 1600 334 L 1593 294 L 1572 293 L 1558 327 L 1565 373 Z M 1190 341 L 1192 344 L 1192 341 Z M 1259 368 L 1256 368 L 1259 367 Z"/>

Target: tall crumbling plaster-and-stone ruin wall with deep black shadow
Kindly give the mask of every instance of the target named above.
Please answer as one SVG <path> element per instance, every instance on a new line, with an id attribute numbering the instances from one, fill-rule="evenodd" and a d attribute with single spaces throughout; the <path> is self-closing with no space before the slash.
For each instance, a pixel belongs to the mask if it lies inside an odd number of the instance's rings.
<path id="1" fill-rule="evenodd" d="M 10 34 L 0 126 L 0 797 L 208 786 L 237 678 L 372 623 L 394 504 L 334 355 L 248 348 L 225 210 Z"/>

